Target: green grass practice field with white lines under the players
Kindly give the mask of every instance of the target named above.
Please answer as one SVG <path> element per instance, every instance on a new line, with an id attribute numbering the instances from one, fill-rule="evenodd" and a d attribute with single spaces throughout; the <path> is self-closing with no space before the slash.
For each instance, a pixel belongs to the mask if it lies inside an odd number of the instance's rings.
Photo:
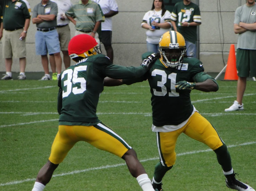
<path id="1" fill-rule="evenodd" d="M 244 111 L 224 112 L 236 99 L 235 81 L 218 81 L 218 92 L 193 90 L 195 108 L 227 144 L 237 179 L 256 189 L 256 82 L 248 81 Z M 57 81 L 0 81 L 0 191 L 32 190 L 47 161 L 58 131 Z M 105 87 L 99 119 L 115 130 L 138 154 L 152 179 L 159 161 L 151 131 L 148 82 Z M 175 108 L 170 108 L 174 110 Z M 215 153 L 185 134 L 176 145 L 177 160 L 163 179 L 164 191 L 228 191 Z M 77 143 L 54 172 L 45 191 L 139 191 L 124 160 Z"/>

